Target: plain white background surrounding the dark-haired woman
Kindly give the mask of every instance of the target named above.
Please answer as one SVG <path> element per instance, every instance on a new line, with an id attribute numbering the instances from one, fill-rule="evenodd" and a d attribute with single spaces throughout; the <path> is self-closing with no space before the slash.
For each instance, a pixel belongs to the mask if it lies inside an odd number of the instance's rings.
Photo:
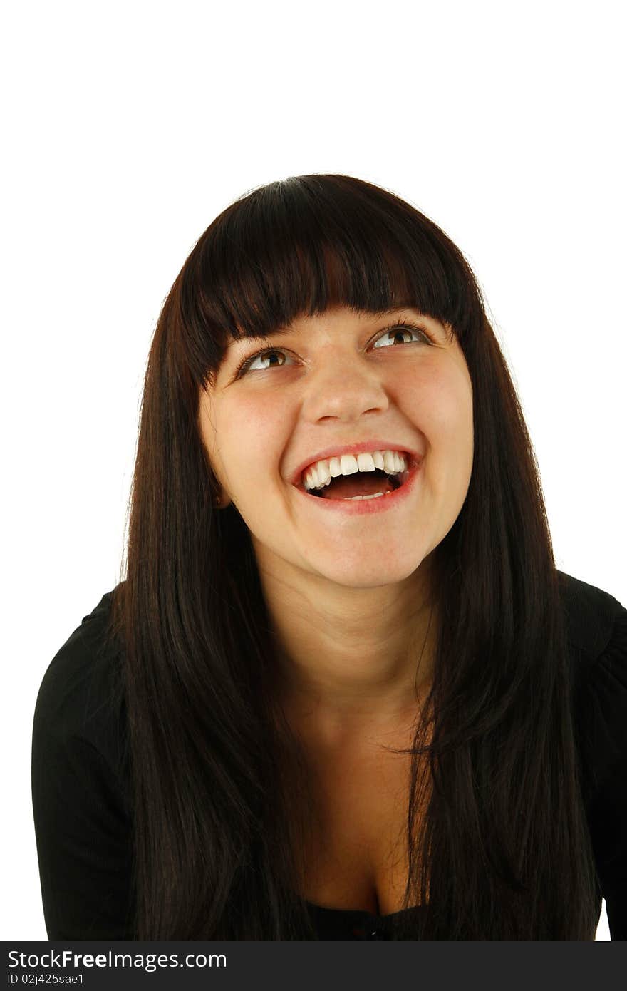
<path id="1" fill-rule="evenodd" d="M 5 6 L 3 939 L 47 938 L 33 710 L 118 580 L 157 314 L 247 190 L 340 171 L 444 228 L 518 385 L 558 566 L 627 605 L 621 7 Z"/>

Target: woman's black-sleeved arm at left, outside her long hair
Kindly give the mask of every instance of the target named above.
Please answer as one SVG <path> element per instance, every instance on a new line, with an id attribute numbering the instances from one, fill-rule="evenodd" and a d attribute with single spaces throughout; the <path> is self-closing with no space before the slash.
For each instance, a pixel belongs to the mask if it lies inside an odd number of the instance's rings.
<path id="1" fill-rule="evenodd" d="M 50 939 L 132 939 L 131 826 L 110 746 L 117 729 L 105 715 L 103 669 L 83 633 L 75 630 L 54 657 L 33 725 L 46 928 Z"/>

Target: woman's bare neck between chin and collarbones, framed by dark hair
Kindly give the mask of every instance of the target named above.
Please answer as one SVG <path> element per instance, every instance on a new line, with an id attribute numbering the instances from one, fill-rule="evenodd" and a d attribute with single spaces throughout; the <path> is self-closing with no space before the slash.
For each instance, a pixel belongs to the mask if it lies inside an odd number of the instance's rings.
<path id="1" fill-rule="evenodd" d="M 433 680 L 436 606 L 418 569 L 391 587 L 298 585 L 260 571 L 272 620 L 277 691 L 299 720 L 350 734 L 415 715 Z"/>

